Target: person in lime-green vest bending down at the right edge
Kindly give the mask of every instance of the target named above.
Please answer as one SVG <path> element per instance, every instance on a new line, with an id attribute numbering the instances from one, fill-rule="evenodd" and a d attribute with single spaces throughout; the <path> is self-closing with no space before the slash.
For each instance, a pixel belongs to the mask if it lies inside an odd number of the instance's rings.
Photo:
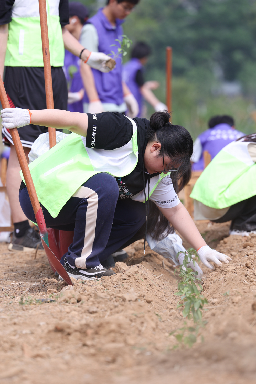
<path id="1" fill-rule="evenodd" d="M 190 197 L 196 220 L 225 223 L 230 235 L 256 233 L 256 134 L 231 142 L 214 157 Z"/>

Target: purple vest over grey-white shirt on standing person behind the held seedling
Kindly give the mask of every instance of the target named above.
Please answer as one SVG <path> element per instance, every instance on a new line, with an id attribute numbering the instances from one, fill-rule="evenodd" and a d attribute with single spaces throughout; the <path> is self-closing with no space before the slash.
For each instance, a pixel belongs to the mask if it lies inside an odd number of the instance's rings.
<path id="1" fill-rule="evenodd" d="M 111 51 L 116 53 L 117 47 L 111 46 L 111 44 L 118 45 L 115 40 L 122 40 L 123 29 L 121 23 L 123 23 L 123 20 L 116 19 L 116 28 L 114 28 L 107 20 L 104 13 L 102 13 L 101 8 L 96 15 L 88 20 L 88 23 L 93 24 L 97 30 L 99 37 L 99 52 L 106 53 L 106 55 L 111 53 Z M 116 59 L 116 68 L 109 73 L 102 73 L 95 69 L 92 69 L 92 72 L 94 74 L 95 85 L 101 102 L 121 105 L 124 102 L 121 56 Z"/>

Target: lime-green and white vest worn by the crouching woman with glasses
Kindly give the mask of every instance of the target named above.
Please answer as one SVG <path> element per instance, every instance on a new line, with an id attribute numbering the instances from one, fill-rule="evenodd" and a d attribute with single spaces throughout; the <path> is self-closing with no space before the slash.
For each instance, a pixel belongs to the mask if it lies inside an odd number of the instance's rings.
<path id="1" fill-rule="evenodd" d="M 65 137 L 56 146 L 29 164 L 38 200 L 51 216 L 56 217 L 70 197 L 93 175 L 107 172 L 114 177 L 123 177 L 129 175 L 135 169 L 139 154 L 137 126 L 132 119 L 129 120 L 133 125 L 133 135 L 130 139 L 133 152 L 127 156 L 126 166 L 123 171 L 118 166 L 116 166 L 116 169 L 112 166 L 111 171 L 107 170 L 108 166 L 101 166 L 101 170 L 96 170 L 95 162 L 88 155 L 89 151 L 96 154 L 94 156 L 97 158 L 97 163 L 101 162 L 103 164 L 107 162 L 107 156 L 111 159 L 111 152 L 114 153 L 117 150 L 85 148 L 81 136 L 75 133 Z M 118 150 L 122 151 L 122 147 Z M 130 161 L 131 158 L 132 161 Z M 20 174 L 23 182 L 25 182 L 22 172 Z M 163 177 L 167 175 L 163 173 L 158 175 L 155 182 L 150 184 L 150 195 Z"/>

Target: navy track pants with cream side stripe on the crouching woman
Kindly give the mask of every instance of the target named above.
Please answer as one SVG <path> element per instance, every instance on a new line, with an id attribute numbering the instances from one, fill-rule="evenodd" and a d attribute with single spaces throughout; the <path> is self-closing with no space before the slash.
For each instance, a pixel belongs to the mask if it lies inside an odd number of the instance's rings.
<path id="1" fill-rule="evenodd" d="M 74 231 L 73 243 L 61 262 L 66 257 L 72 266 L 93 268 L 135 235 L 146 220 L 145 204 L 117 198 L 116 179 L 99 173 L 74 193 L 56 218 L 42 205 L 47 227 Z M 36 222 L 26 188 L 20 190 L 19 199 L 26 217 Z"/>

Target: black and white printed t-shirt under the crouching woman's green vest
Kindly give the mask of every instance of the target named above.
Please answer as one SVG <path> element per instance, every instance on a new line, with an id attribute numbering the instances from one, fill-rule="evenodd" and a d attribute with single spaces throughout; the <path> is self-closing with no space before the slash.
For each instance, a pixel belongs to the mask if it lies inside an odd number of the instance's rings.
<path id="1" fill-rule="evenodd" d="M 126 176 L 116 177 L 119 187 L 119 199 L 127 199 L 131 197 L 136 201 L 144 201 L 144 184 L 143 172 L 146 182 L 146 190 L 148 180 L 150 179 L 150 190 L 159 181 L 159 173 L 148 174 L 146 169 L 142 169 L 142 157 L 147 146 L 146 131 L 149 127 L 149 120 L 135 118 L 133 119 L 137 125 L 138 132 L 138 162 L 135 169 Z M 114 163 L 121 164 L 122 159 L 127 159 L 127 155 L 133 152 L 132 138 L 133 125 L 129 118 L 121 113 L 104 112 L 99 114 L 88 114 L 88 130 L 86 138 L 82 138 L 86 149 L 97 149 L 113 151 L 119 154 L 118 159 Z M 121 151 L 118 149 L 121 149 Z M 94 151 L 87 150 L 89 157 L 93 156 Z M 97 154 L 99 151 L 95 151 Z M 94 153 L 95 153 L 94 152 Z M 96 155 L 95 153 L 95 155 Z M 105 152 L 106 153 L 106 152 Z M 121 157 L 120 158 L 120 153 Z M 96 157 L 96 156 L 95 156 Z M 94 164 L 96 158 L 93 159 Z M 117 161 L 118 160 L 118 161 Z M 100 168 L 100 167 L 99 167 Z M 170 177 L 165 177 L 163 181 L 159 182 L 154 192 L 150 196 L 156 205 L 160 207 L 170 208 L 179 204 L 177 194 L 173 189 L 170 182 Z"/>

